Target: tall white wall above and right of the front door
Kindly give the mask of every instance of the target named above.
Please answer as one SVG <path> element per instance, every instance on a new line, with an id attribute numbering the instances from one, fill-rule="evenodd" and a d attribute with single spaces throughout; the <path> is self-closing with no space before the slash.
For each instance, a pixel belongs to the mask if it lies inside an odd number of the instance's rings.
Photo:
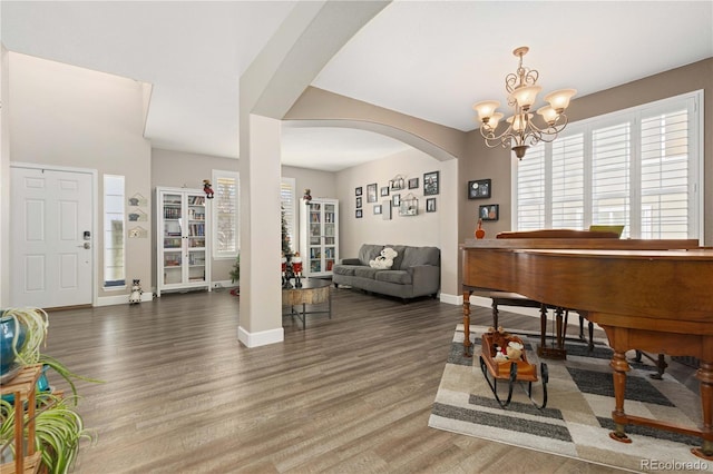
<path id="1" fill-rule="evenodd" d="M 10 161 L 97 170 L 94 217 L 101 229 L 104 174 L 124 175 L 127 197 L 150 196 L 150 145 L 143 136 L 145 92 L 145 85 L 131 79 L 10 52 Z M 8 228 L 1 235 L 7 239 Z M 104 248 L 101 231 L 94 243 Z M 126 278 L 140 278 L 145 288 L 153 285 L 152 247 L 150 229 L 147 238 L 126 239 Z M 126 298 L 129 288 L 102 290 L 102 264 L 98 251 L 99 298 Z"/>

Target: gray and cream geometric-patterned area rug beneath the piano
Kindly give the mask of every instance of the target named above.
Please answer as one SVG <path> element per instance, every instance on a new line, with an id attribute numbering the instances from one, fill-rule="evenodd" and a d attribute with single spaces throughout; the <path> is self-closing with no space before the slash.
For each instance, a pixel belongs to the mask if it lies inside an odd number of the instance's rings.
<path id="1" fill-rule="evenodd" d="M 604 343 L 589 353 L 586 344 L 567 340 L 567 361 L 545 361 L 549 371 L 546 408 L 537 409 L 518 385 L 510 406 L 501 408 L 480 371 L 484 330 L 482 326 L 470 326 L 473 357 L 466 358 L 462 325 L 456 328 L 429 426 L 636 472 L 713 472 L 713 462 L 691 453 L 691 447 L 701 444 L 697 437 L 629 425 L 631 444 L 609 438 L 615 403 L 608 365 L 612 352 Z M 517 335 L 539 375 L 540 361 L 535 352 L 539 335 Z M 700 426 L 701 401 L 696 393 L 667 374 L 662 381 L 652 379 L 648 375 L 655 372 L 653 365 L 629 365 L 624 404 L 627 414 L 694 429 Z M 541 399 L 541 387 L 533 387 L 534 398 Z M 507 382 L 498 383 L 498 393 L 501 399 L 507 397 Z"/>

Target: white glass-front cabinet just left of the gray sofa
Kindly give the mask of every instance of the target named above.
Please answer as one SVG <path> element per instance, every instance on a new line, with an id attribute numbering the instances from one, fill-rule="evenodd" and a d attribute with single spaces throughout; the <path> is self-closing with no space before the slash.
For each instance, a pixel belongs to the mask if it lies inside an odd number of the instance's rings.
<path id="1" fill-rule="evenodd" d="M 339 200 L 314 198 L 303 206 L 300 256 L 304 275 L 332 275 L 332 267 L 339 261 Z"/>

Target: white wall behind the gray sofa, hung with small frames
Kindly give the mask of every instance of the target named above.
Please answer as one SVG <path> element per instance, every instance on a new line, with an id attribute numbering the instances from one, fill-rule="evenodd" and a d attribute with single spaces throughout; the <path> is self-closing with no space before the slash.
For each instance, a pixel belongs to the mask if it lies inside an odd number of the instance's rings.
<path id="1" fill-rule="evenodd" d="M 348 168 L 338 172 L 338 197 L 340 199 L 340 258 L 356 257 L 362 244 L 392 244 L 441 247 L 440 225 L 441 216 L 447 207 L 442 206 L 442 194 L 423 196 L 423 174 L 441 171 L 441 161 L 417 149 L 410 149 L 364 165 Z M 375 182 L 378 191 L 389 185 L 394 176 L 419 178 L 416 189 L 397 191 L 403 199 L 409 192 L 419 199 L 417 216 L 399 216 L 398 208 L 392 208 L 391 220 L 383 220 L 383 216 L 373 214 L 374 204 L 383 205 L 389 197 L 378 196 L 378 203 L 367 203 L 367 186 Z M 441 176 L 441 184 L 443 177 Z M 355 218 L 356 197 L 354 188 L 362 187 L 363 217 Z M 426 198 L 436 198 L 436 213 L 426 213 Z"/>

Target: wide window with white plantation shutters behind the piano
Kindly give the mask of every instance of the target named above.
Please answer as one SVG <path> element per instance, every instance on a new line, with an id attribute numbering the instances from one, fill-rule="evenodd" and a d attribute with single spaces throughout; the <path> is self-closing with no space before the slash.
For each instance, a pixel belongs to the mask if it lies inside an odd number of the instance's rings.
<path id="1" fill-rule="evenodd" d="M 702 238 L 702 92 L 572 124 L 514 166 L 514 228 Z M 516 161 L 516 160 L 514 160 Z"/>

